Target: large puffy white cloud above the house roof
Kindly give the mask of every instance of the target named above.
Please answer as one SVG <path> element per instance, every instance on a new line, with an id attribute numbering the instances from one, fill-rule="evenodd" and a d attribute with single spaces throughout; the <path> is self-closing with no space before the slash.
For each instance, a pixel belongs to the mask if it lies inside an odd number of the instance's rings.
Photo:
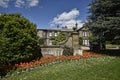
<path id="1" fill-rule="evenodd" d="M 83 23 L 81 20 L 76 19 L 79 15 L 80 12 L 77 9 L 72 9 L 70 12 L 63 12 L 62 14 L 57 15 L 57 17 L 53 18 L 53 21 L 50 22 L 50 25 L 60 25 L 62 27 L 67 26 L 68 28 L 72 28 L 77 22 L 78 28 L 80 28 L 82 27 Z"/>

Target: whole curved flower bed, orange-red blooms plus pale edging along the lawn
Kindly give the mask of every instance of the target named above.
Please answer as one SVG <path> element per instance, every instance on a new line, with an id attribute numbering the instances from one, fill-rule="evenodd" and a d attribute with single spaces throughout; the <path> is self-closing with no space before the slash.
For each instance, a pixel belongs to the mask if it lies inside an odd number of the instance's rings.
<path id="1" fill-rule="evenodd" d="M 48 67 L 53 64 L 65 62 L 65 61 L 72 61 L 72 60 L 80 60 L 81 58 L 91 58 L 91 57 L 100 57 L 103 56 L 101 54 L 96 54 L 89 51 L 84 51 L 83 55 L 77 55 L 77 56 L 47 56 L 42 57 L 38 60 L 33 60 L 31 62 L 24 62 L 20 64 L 15 64 L 14 69 L 17 70 L 11 70 L 7 73 L 5 77 L 13 76 L 15 74 L 21 74 L 24 72 L 29 72 L 38 68 Z"/>

